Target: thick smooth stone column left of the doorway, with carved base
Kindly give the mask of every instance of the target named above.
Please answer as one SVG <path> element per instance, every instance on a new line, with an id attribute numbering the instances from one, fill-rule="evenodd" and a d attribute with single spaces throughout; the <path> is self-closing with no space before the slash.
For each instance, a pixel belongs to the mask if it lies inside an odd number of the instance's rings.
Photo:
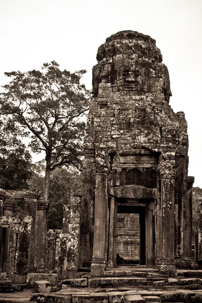
<path id="1" fill-rule="evenodd" d="M 91 264 L 92 276 L 102 276 L 103 271 L 106 269 L 105 240 L 107 203 L 107 174 L 97 173 L 95 185 L 93 258 Z"/>

